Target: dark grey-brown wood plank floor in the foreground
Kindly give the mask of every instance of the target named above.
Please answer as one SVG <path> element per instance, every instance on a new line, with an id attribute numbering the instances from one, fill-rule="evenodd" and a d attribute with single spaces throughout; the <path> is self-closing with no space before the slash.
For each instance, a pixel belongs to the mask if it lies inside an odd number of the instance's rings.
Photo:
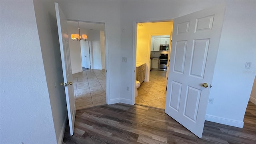
<path id="1" fill-rule="evenodd" d="M 63 144 L 256 144 L 256 105 L 248 103 L 244 128 L 206 121 L 196 137 L 164 110 L 112 104 L 76 112 L 74 136 L 66 126 Z"/>

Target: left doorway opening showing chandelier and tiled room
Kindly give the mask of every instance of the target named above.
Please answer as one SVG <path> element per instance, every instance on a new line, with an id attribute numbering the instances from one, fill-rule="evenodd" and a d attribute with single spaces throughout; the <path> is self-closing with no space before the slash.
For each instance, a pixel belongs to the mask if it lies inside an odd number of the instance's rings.
<path id="1" fill-rule="evenodd" d="M 68 34 L 86 34 L 87 39 L 72 40 L 70 59 L 76 110 L 106 104 L 105 24 L 68 21 Z"/>

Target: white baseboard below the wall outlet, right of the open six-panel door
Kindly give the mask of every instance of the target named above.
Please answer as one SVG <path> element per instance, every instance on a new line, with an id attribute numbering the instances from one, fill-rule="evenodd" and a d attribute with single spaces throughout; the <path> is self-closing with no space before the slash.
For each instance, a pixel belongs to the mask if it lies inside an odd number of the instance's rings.
<path id="1" fill-rule="evenodd" d="M 219 124 L 226 124 L 228 126 L 235 126 L 238 128 L 243 128 L 243 126 L 244 126 L 243 121 L 233 120 L 233 119 L 229 119 L 229 118 L 222 118 L 219 116 L 213 116 L 213 115 L 209 115 L 209 114 L 206 114 L 205 120 L 210 121 L 210 122 L 216 122 Z"/>

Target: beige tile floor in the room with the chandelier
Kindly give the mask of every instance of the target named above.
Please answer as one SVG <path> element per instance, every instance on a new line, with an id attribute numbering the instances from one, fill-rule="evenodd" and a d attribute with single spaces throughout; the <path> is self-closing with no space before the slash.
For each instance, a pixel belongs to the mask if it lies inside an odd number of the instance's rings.
<path id="1" fill-rule="evenodd" d="M 76 110 L 106 104 L 106 73 L 104 70 L 84 70 L 73 74 Z"/>

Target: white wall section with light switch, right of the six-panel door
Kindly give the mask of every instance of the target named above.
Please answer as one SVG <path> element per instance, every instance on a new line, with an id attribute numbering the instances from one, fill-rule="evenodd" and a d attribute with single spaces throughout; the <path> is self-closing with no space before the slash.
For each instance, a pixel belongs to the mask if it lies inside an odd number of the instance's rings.
<path id="1" fill-rule="evenodd" d="M 242 126 L 256 70 L 256 2 L 228 2 L 206 120 Z M 245 63 L 252 62 L 251 69 Z M 247 71 L 250 71 L 249 73 Z M 212 117 L 213 116 L 213 117 Z M 225 123 L 224 123 L 225 124 Z"/>

